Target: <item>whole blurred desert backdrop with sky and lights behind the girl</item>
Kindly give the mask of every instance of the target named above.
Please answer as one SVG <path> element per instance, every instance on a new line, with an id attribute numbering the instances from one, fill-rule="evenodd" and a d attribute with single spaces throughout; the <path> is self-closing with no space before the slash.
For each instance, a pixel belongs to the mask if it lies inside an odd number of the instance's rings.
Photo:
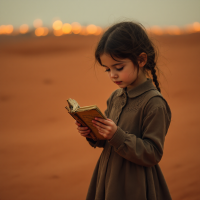
<path id="1" fill-rule="evenodd" d="M 102 149 L 79 136 L 64 108 L 98 105 L 117 86 L 95 65 L 110 25 L 142 23 L 159 49 L 172 110 L 160 162 L 174 200 L 200 199 L 200 2 L 0 0 L 0 199 L 85 199 Z"/>

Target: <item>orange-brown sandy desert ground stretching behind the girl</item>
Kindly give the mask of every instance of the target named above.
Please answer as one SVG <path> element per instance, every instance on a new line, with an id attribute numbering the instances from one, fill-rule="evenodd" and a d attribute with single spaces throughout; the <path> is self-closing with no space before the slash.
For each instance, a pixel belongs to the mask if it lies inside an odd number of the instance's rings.
<path id="1" fill-rule="evenodd" d="M 85 199 L 101 149 L 79 136 L 66 99 L 102 110 L 117 89 L 94 69 L 96 36 L 0 37 L 0 200 Z M 157 36 L 172 110 L 160 166 L 174 200 L 200 199 L 200 34 Z"/>

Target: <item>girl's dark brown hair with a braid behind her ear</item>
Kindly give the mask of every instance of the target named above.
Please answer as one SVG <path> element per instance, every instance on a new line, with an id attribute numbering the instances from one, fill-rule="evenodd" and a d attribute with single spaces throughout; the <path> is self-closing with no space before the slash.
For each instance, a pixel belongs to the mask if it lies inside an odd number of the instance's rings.
<path id="1" fill-rule="evenodd" d="M 145 28 L 134 22 L 120 22 L 111 26 L 100 39 L 95 58 L 100 65 L 100 56 L 104 53 L 109 54 L 114 60 L 116 58 L 129 58 L 139 69 L 138 59 L 141 53 L 147 54 L 147 63 L 143 67 L 144 72 L 151 73 L 153 81 L 160 91 L 156 75 L 157 52 L 149 39 Z"/>

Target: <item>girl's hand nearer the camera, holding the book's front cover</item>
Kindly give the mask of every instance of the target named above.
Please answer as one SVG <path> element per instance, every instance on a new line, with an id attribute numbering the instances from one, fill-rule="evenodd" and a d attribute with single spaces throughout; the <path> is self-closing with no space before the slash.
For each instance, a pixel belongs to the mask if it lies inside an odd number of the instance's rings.
<path id="1" fill-rule="evenodd" d="M 111 119 L 95 118 L 93 125 L 105 139 L 110 140 L 117 130 L 117 125 Z"/>

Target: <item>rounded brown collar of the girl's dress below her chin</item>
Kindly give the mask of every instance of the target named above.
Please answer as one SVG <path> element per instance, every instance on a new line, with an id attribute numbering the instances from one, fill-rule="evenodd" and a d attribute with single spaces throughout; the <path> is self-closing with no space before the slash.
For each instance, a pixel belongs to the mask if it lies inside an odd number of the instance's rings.
<path id="1" fill-rule="evenodd" d="M 121 88 L 118 90 L 117 96 L 121 96 L 124 93 L 127 93 L 129 98 L 134 98 L 140 96 L 141 94 L 149 91 L 149 90 L 157 90 L 157 88 L 153 85 L 152 79 L 147 79 L 144 83 L 138 85 L 137 87 L 126 91 L 126 88 Z"/>

